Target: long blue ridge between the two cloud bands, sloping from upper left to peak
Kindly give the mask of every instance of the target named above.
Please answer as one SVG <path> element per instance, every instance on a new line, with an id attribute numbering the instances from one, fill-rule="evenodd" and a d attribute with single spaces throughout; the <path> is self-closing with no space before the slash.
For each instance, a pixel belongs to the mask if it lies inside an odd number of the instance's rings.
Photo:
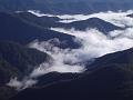
<path id="1" fill-rule="evenodd" d="M 116 27 L 99 18 L 90 18 L 88 20 L 81 20 L 71 23 L 62 23 L 59 22 L 61 19 L 57 17 L 47 17 L 47 16 L 37 17 L 30 12 L 20 12 L 14 14 L 27 22 L 44 28 L 65 28 L 65 29 L 74 28 L 75 30 L 80 30 L 80 31 L 85 31 L 86 29 L 95 28 L 103 33 L 108 33 L 113 30 L 122 30 L 122 28 Z"/>

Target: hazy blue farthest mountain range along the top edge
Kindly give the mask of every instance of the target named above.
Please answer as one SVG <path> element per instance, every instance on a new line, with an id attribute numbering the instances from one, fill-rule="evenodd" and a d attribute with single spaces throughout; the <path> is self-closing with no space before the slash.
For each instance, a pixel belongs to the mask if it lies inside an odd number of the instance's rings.
<path id="1" fill-rule="evenodd" d="M 99 11 L 117 11 L 133 8 L 131 0 L 0 0 L 0 11 L 40 10 L 44 13 L 93 13 Z"/>

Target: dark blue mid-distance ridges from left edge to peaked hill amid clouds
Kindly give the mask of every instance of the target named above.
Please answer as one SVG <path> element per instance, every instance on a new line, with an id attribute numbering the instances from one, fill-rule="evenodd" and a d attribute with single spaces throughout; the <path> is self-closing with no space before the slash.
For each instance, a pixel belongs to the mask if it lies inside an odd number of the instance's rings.
<path id="1" fill-rule="evenodd" d="M 60 41 L 66 43 L 60 44 L 61 48 L 78 48 L 80 44 L 73 41 L 73 36 L 60 33 L 50 30 L 50 28 L 75 28 L 75 30 L 85 30 L 88 28 L 99 29 L 101 32 L 109 32 L 113 30 L 121 30 L 110 22 L 103 21 L 99 18 L 91 18 L 83 21 L 75 21 L 71 23 L 61 23 L 55 17 L 35 17 L 29 12 L 22 13 L 3 13 L 0 12 L 0 39 L 27 44 L 35 39 L 47 41 L 58 38 Z M 82 26 L 81 26 L 82 24 Z M 8 30 L 7 30 L 8 29 Z M 21 36 L 22 34 L 22 36 Z"/>

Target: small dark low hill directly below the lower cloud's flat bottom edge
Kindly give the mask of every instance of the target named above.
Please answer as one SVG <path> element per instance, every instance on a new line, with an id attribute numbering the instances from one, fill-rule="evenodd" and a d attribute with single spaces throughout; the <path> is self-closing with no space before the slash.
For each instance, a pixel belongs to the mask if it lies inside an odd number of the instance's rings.
<path id="1" fill-rule="evenodd" d="M 59 73 L 59 72 L 50 72 L 48 74 L 41 76 L 38 78 L 38 83 L 34 84 L 35 88 L 48 87 L 51 84 L 55 84 L 62 81 L 71 81 L 75 80 L 83 76 L 83 73 Z"/>

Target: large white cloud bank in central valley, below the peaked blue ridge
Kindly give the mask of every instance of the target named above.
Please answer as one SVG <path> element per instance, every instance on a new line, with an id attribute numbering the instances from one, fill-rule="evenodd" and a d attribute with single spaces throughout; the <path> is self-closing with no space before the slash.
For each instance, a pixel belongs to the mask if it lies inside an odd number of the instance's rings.
<path id="1" fill-rule="evenodd" d="M 133 47 L 133 28 L 126 30 L 115 30 L 108 36 L 90 29 L 86 31 L 75 31 L 51 28 L 51 30 L 75 36 L 75 41 L 82 44 L 79 49 L 60 49 L 49 41 L 34 41 L 30 43 L 30 48 L 49 53 L 53 58 L 52 64 L 42 63 L 34 69 L 32 77 L 39 77 L 52 71 L 57 72 L 83 72 L 85 64 L 94 61 L 95 58 L 108 53 L 126 50 Z M 54 41 L 57 39 L 53 39 Z"/>

